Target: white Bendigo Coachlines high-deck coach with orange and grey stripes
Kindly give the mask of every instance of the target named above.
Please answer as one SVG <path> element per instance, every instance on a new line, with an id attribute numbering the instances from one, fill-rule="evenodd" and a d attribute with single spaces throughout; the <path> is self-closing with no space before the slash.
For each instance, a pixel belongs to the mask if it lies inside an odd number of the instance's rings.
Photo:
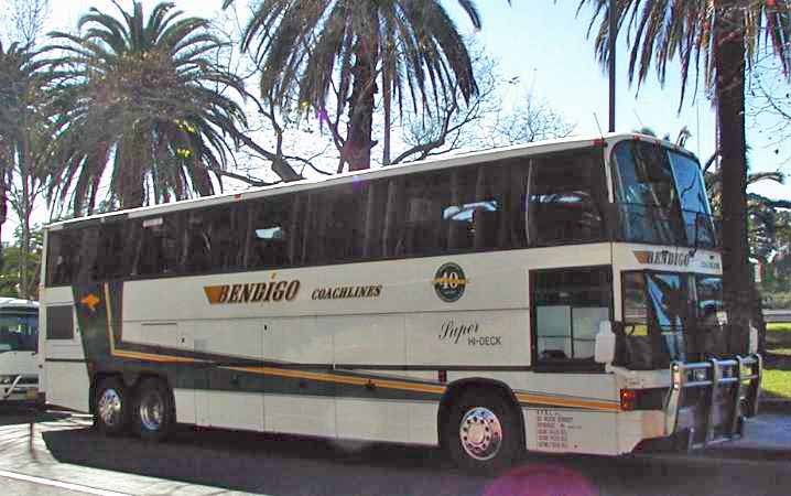
<path id="1" fill-rule="evenodd" d="M 756 412 L 700 165 L 649 137 L 79 218 L 45 251 L 47 399 L 109 434 L 438 444 L 486 471 L 703 446 Z"/>

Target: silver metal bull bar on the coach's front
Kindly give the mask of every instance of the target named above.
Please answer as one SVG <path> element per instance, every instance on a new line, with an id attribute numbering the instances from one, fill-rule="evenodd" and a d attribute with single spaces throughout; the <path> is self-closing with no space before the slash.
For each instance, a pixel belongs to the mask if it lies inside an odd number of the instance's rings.
<path id="1" fill-rule="evenodd" d="M 668 436 L 685 440 L 687 450 L 738 439 L 744 419 L 758 412 L 760 355 L 671 365 L 664 409 Z"/>

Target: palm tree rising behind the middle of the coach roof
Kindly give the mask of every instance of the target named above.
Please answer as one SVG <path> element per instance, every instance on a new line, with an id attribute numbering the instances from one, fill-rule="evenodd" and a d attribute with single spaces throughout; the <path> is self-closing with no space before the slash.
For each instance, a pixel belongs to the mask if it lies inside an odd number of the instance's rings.
<path id="1" fill-rule="evenodd" d="M 224 7 L 232 1 L 225 0 Z M 475 2 L 458 0 L 458 4 L 480 28 Z M 263 1 L 241 46 L 254 48 L 261 95 L 280 108 L 296 100 L 302 110 L 313 107 L 326 116 L 331 91 L 338 116 L 348 108 L 346 137 L 337 129 L 334 137 L 342 165 L 347 162 L 350 170 L 370 166 L 380 86 L 386 128 L 392 101 L 402 108 L 409 99 L 416 109 L 446 95 L 453 84 L 465 99 L 477 91 L 467 47 L 438 0 Z"/>

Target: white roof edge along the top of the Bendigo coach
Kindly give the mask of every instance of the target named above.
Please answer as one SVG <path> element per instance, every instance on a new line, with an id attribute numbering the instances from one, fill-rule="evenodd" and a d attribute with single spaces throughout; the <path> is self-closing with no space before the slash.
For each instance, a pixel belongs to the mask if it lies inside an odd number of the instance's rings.
<path id="1" fill-rule="evenodd" d="M 340 174 L 318 179 L 305 179 L 289 183 L 278 183 L 271 186 L 251 187 L 243 192 L 223 193 L 213 196 L 204 196 L 199 198 L 182 200 L 178 202 L 150 205 L 123 211 L 108 212 L 88 217 L 77 217 L 67 220 L 61 220 L 44 226 L 45 229 L 61 229 L 64 227 L 82 227 L 86 225 L 96 225 L 105 220 L 115 220 L 119 218 L 137 218 L 149 217 L 169 212 L 189 211 L 212 205 L 221 205 L 234 203 L 242 200 L 251 200 L 270 195 L 283 194 L 286 192 L 313 190 L 331 184 L 349 183 L 360 177 L 369 180 L 388 177 L 393 175 L 409 174 L 414 172 L 438 170 L 445 168 L 460 166 L 474 164 L 476 162 L 494 162 L 497 160 L 516 159 L 520 157 L 530 157 L 535 154 L 552 153 L 564 150 L 573 150 L 577 148 L 587 148 L 592 145 L 607 143 L 616 143 L 621 140 L 638 139 L 641 141 L 651 141 L 664 144 L 669 148 L 690 153 L 680 149 L 674 143 L 661 140 L 655 137 L 638 134 L 638 133 L 606 133 L 588 137 L 561 138 L 554 140 L 535 141 L 527 144 L 516 144 L 511 147 L 496 148 L 485 151 L 475 151 L 468 153 L 459 153 L 454 155 L 435 157 L 426 160 L 401 163 L 386 168 L 368 169 L 365 171 L 351 171 Z"/>

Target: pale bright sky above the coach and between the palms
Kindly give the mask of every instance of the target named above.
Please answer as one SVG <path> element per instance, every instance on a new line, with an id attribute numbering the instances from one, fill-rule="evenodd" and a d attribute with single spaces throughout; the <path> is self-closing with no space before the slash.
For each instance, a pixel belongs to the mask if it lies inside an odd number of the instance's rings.
<path id="1" fill-rule="evenodd" d="M 0 8 L 8 0 L 0 0 Z M 189 15 L 214 19 L 223 0 L 173 0 L 176 7 Z M 119 0 L 123 7 L 131 0 Z M 158 2 L 143 0 L 149 11 Z M 246 4 L 247 0 L 237 0 Z M 453 0 L 444 4 L 458 12 Z M 594 42 L 586 36 L 589 13 L 578 15 L 578 0 L 479 0 L 483 29 L 474 36 L 498 63 L 503 80 L 518 77 L 519 84 L 503 85 L 505 105 L 516 105 L 532 94 L 546 101 L 564 118 L 575 125 L 574 134 L 597 134 L 607 130 L 608 83 L 607 75 L 597 63 Z M 110 0 L 51 0 L 47 30 L 72 30 L 79 17 L 90 7 L 115 12 Z M 4 10 L 4 9 L 3 9 Z M 458 28 L 473 33 L 468 20 L 458 17 Z M 626 36 L 619 37 L 618 93 L 616 100 L 616 130 L 630 132 L 642 127 L 652 128 L 659 136 L 675 137 L 684 126 L 692 132 L 686 148 L 705 161 L 715 148 L 715 116 L 711 103 L 701 89 L 687 90 L 684 106 L 679 112 L 680 85 L 678 64 L 669 66 L 664 87 L 651 74 L 640 88 L 628 86 Z M 702 86 L 701 86 L 702 88 Z M 771 126 L 776 122 L 765 122 Z M 748 122 L 747 138 L 751 148 L 752 171 L 781 171 L 791 173 L 791 148 L 772 144 L 767 132 Z M 776 150 L 778 151 L 776 153 Z M 762 183 L 751 191 L 774 197 L 791 197 L 791 184 Z M 36 212 L 39 222 L 46 222 L 46 208 Z M 11 222 L 9 222 L 11 224 Z M 12 229 L 3 226 L 2 240 L 10 239 Z"/>

